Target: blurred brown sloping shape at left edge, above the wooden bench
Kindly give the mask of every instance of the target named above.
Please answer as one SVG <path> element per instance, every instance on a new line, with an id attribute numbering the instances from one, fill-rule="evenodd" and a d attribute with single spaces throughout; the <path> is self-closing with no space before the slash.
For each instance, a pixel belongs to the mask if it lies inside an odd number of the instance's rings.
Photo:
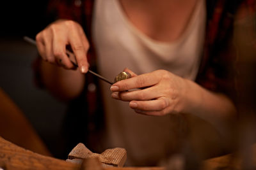
<path id="1" fill-rule="evenodd" d="M 18 106 L 0 88 L 0 136 L 33 152 L 51 155 Z"/>

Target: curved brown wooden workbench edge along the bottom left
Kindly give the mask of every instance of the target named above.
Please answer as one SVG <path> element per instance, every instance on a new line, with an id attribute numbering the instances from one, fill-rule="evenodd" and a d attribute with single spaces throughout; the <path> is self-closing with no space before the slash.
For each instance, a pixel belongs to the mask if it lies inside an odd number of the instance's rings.
<path id="1" fill-rule="evenodd" d="M 163 170 L 163 167 L 102 167 L 97 157 L 84 159 L 82 164 L 46 157 L 20 148 L 0 137 L 0 167 L 3 169 L 86 169 L 86 170 Z"/>

